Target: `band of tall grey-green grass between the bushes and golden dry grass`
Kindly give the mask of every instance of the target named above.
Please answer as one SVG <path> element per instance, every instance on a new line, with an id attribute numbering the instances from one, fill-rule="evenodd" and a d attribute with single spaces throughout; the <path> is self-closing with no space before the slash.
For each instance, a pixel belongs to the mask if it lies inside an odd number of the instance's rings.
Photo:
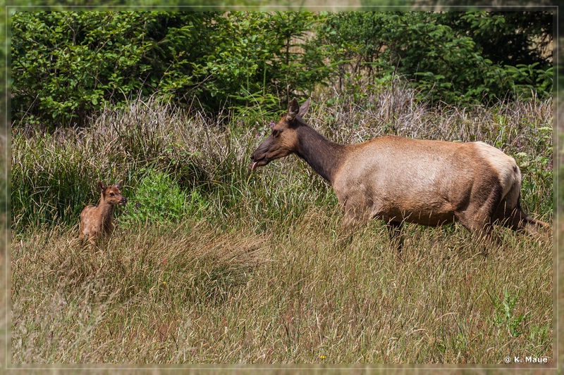
<path id="1" fill-rule="evenodd" d="M 309 113 L 310 125 L 330 139 L 352 143 L 391 133 L 419 139 L 486 141 L 514 155 L 520 164 L 525 209 L 541 215 L 551 212 L 551 101 L 512 103 L 490 110 L 429 110 L 416 103 L 412 92 L 397 88 L 367 94 L 360 103 L 338 99 L 324 106 L 324 96 L 320 96 L 319 106 Z M 299 215 L 311 204 L 335 203 L 321 178 L 293 158 L 250 174 L 250 153 L 266 136 L 267 124 L 278 117 L 264 116 L 222 125 L 152 100 L 137 101 L 126 110 L 106 109 L 85 129 L 60 129 L 54 134 L 13 129 L 12 228 L 73 224 L 84 205 L 97 199 L 97 179 L 123 178 L 127 191 L 154 170 L 171 174 L 182 189 L 197 189 L 221 222 L 233 217 L 233 212 L 260 222 L 263 212 L 253 205 L 262 198 L 280 201 L 273 199 L 280 194 L 285 205 L 271 211 L 277 219 L 294 217 L 288 208 L 298 210 Z"/>

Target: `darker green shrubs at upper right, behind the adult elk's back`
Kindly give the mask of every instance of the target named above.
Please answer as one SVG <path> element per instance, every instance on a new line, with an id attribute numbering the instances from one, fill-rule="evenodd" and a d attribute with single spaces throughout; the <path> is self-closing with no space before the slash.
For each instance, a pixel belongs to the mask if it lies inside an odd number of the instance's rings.
<path id="1" fill-rule="evenodd" d="M 537 50 L 551 40 L 552 18 L 548 12 L 539 14 L 333 13 L 319 25 L 317 36 L 340 61 L 341 88 L 360 74 L 372 83 L 400 75 L 425 101 L 491 104 L 551 96 L 551 57 Z M 498 39 L 489 39 L 489 33 Z M 495 53 L 500 40 L 505 41 L 505 53 L 522 57 Z"/>

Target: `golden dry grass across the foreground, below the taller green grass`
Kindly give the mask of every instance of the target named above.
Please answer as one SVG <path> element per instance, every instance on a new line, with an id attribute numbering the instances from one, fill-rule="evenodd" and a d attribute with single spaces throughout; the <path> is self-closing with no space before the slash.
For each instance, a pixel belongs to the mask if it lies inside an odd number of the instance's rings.
<path id="1" fill-rule="evenodd" d="M 552 359 L 550 234 L 501 231 L 503 248 L 484 259 L 461 229 L 409 226 L 398 260 L 380 225 L 336 246 L 336 219 L 316 210 L 267 236 L 187 222 L 118 232 L 95 250 L 73 231 L 14 239 L 12 360 Z"/>

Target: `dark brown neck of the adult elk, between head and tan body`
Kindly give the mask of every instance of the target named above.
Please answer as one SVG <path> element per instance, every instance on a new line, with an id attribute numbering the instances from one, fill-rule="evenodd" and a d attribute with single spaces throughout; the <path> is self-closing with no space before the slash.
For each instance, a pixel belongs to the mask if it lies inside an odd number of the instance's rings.
<path id="1" fill-rule="evenodd" d="M 329 141 L 307 125 L 298 127 L 296 131 L 298 147 L 295 153 L 321 177 L 333 184 L 336 171 L 345 158 L 346 146 Z"/>

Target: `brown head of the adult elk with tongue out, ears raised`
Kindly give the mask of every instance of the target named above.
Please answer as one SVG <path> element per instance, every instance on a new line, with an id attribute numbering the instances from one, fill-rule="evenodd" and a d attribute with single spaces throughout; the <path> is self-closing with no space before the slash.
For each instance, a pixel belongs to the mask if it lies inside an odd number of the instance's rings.
<path id="1" fill-rule="evenodd" d="M 272 126 L 270 136 L 252 153 L 251 160 L 254 162 L 252 170 L 296 151 L 299 142 L 296 130 L 305 125 L 299 120 L 305 115 L 307 108 L 309 108 L 309 99 L 300 107 L 298 100 L 293 98 L 288 113 L 283 115 L 276 125 Z"/>

